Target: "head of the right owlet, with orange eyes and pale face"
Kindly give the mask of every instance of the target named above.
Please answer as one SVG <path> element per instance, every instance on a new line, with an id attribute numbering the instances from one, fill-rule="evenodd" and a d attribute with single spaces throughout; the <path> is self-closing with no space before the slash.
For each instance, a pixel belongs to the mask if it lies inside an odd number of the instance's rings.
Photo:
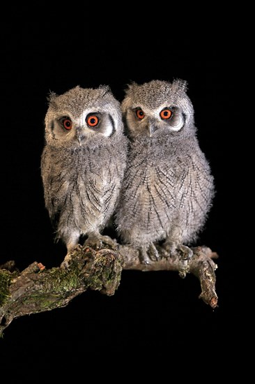
<path id="1" fill-rule="evenodd" d="M 194 110 L 186 90 L 184 80 L 129 84 L 121 103 L 127 135 L 153 139 L 194 133 Z"/>

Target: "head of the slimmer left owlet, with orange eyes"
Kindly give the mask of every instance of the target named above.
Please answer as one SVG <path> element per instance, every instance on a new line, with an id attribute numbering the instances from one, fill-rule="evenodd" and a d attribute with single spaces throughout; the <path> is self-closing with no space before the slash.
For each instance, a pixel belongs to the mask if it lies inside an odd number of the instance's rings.
<path id="1" fill-rule="evenodd" d="M 45 116 L 47 144 L 82 146 L 93 138 L 111 138 L 123 133 L 121 104 L 109 86 L 75 87 L 64 94 L 49 94 Z"/>

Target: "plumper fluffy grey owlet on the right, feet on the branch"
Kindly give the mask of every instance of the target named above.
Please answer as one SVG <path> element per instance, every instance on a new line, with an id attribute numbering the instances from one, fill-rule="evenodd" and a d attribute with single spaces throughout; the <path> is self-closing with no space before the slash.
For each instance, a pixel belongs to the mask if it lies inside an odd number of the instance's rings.
<path id="1" fill-rule="evenodd" d="M 203 229 L 215 194 L 186 91 L 183 80 L 132 83 L 121 103 L 130 145 L 115 223 L 144 263 L 159 257 L 155 244 L 166 256 L 192 256 L 188 245 Z"/>

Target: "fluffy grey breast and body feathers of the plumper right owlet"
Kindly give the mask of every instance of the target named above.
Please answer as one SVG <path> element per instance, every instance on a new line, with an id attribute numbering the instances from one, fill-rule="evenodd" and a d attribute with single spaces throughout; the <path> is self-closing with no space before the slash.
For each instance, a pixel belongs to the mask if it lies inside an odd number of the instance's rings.
<path id="1" fill-rule="evenodd" d="M 181 152 L 176 145 L 159 146 L 153 140 L 132 146 L 117 214 L 125 242 L 160 241 L 176 228 L 181 228 L 183 242 L 196 237 L 211 194 L 210 170 L 203 161 L 192 145 Z"/>

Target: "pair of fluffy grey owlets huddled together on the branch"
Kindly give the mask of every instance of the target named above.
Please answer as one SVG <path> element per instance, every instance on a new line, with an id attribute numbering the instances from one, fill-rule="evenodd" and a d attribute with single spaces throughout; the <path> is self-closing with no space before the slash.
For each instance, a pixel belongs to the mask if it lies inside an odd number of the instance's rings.
<path id="1" fill-rule="evenodd" d="M 215 193 L 183 80 L 132 83 L 122 103 L 108 86 L 51 94 L 41 174 L 67 262 L 82 237 L 116 246 L 102 235 L 113 218 L 141 262 L 157 260 L 157 244 L 168 256 L 183 251 L 201 232 Z"/>

